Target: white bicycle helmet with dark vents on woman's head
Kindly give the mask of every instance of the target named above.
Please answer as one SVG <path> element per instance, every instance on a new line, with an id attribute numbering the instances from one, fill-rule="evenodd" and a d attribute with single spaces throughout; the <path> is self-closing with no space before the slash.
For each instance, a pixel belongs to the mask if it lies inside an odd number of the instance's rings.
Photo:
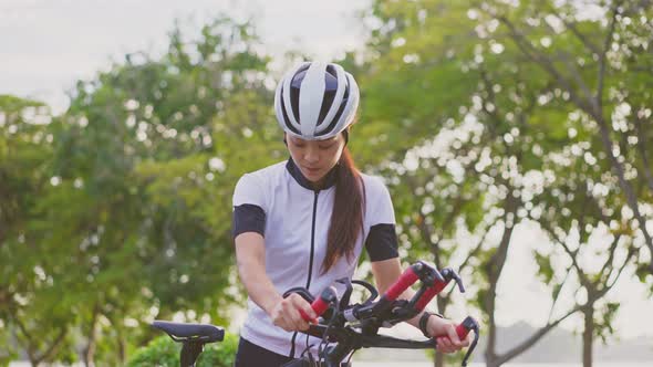
<path id="1" fill-rule="evenodd" d="M 334 137 L 354 119 L 359 85 L 334 63 L 304 62 L 281 78 L 274 112 L 281 128 L 305 140 Z"/>

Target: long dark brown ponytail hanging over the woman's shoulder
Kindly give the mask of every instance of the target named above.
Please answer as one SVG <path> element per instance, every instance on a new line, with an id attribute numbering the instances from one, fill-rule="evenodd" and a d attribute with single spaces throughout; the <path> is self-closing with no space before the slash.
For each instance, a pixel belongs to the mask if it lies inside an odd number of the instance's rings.
<path id="1" fill-rule="evenodd" d="M 342 256 L 351 261 L 354 258 L 356 240 L 363 233 L 365 185 L 346 146 L 342 150 L 338 165 L 335 198 L 326 237 L 326 255 L 322 262 L 322 274 Z"/>

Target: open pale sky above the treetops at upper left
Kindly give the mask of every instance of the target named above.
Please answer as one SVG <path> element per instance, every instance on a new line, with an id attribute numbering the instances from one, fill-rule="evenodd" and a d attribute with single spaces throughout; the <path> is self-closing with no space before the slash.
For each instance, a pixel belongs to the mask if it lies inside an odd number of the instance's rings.
<path id="1" fill-rule="evenodd" d="M 321 59 L 363 42 L 354 12 L 369 0 L 0 0 L 0 93 L 68 106 L 65 91 L 111 60 L 162 52 L 175 19 L 196 24 L 220 12 L 253 19 L 265 49 L 302 48 Z M 189 22 L 194 20 L 194 22 Z"/>

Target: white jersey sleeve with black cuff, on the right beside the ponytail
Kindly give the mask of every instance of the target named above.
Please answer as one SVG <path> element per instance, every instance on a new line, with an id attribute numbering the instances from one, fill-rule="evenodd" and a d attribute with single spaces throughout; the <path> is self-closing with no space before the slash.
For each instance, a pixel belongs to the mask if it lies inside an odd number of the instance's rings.
<path id="1" fill-rule="evenodd" d="M 370 231 L 365 239 L 365 250 L 371 261 L 382 261 L 398 256 L 395 230 L 394 207 L 390 191 L 377 178 L 371 180 L 370 202 L 366 216 Z"/>

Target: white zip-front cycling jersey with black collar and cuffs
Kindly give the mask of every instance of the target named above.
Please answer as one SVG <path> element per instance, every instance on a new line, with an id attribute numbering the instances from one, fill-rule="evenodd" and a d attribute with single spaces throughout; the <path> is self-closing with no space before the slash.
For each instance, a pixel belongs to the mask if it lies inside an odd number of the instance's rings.
<path id="1" fill-rule="evenodd" d="M 313 190 L 299 168 L 289 159 L 243 175 L 234 192 L 234 238 L 258 232 L 266 244 L 266 273 L 280 294 L 303 286 L 318 295 L 333 282 L 354 274 L 363 245 L 371 261 L 397 256 L 397 240 L 392 200 L 380 178 L 361 175 L 365 192 L 363 235 L 356 241 L 354 259 L 339 259 L 329 272 L 321 265 L 326 254 L 326 238 L 333 209 L 339 166 L 328 174 L 325 185 Z M 304 334 L 274 326 L 266 312 L 248 300 L 248 316 L 240 334 L 268 350 L 299 357 L 307 347 Z M 319 339 L 309 338 L 317 352 Z"/>

